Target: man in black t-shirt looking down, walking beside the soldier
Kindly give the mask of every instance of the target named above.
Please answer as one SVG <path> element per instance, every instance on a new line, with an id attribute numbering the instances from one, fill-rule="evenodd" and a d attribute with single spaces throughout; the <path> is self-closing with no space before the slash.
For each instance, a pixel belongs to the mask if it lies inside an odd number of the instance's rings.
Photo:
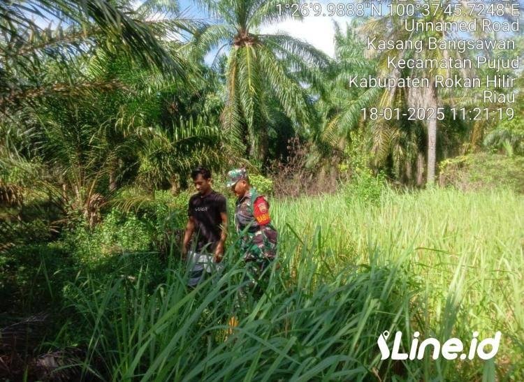
<path id="1" fill-rule="evenodd" d="M 192 263 L 189 285 L 196 286 L 203 277 L 203 272 L 205 270 L 209 272 L 211 267 L 216 269 L 216 265 L 224 256 L 228 215 L 226 198 L 211 188 L 210 170 L 195 168 L 191 172 L 191 178 L 198 193 L 189 198 L 187 210 L 189 219 L 182 244 L 182 256 L 186 258 L 188 250 L 194 248 L 189 258 Z M 193 246 L 189 245 L 191 236 L 194 236 L 195 240 Z M 212 254 L 212 260 L 209 254 Z M 214 266 L 211 266 L 210 262 L 214 263 Z"/>

